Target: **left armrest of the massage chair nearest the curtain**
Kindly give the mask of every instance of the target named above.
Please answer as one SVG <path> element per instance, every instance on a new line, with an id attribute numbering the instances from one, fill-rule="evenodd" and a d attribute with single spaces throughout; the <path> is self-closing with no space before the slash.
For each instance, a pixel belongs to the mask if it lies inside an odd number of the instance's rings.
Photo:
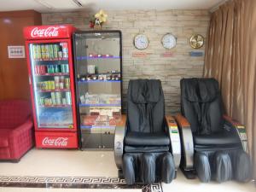
<path id="1" fill-rule="evenodd" d="M 183 148 L 182 166 L 185 171 L 194 169 L 194 142 L 188 119 L 182 114 L 175 116 Z"/>

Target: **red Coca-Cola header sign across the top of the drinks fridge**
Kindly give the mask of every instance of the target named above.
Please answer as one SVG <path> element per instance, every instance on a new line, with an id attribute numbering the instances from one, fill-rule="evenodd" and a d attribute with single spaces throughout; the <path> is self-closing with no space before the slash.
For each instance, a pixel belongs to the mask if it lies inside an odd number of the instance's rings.
<path id="1" fill-rule="evenodd" d="M 26 39 L 71 38 L 76 31 L 71 25 L 26 26 L 23 30 Z"/>

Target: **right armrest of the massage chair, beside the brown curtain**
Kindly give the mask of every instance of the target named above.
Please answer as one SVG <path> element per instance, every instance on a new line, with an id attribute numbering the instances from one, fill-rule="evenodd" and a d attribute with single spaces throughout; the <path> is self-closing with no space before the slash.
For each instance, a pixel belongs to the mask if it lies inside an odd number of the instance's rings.
<path id="1" fill-rule="evenodd" d="M 240 138 L 241 146 L 244 151 L 247 152 L 247 131 L 244 125 L 232 119 L 229 115 L 224 115 L 224 129 L 230 131 L 235 130 L 236 134 Z"/>

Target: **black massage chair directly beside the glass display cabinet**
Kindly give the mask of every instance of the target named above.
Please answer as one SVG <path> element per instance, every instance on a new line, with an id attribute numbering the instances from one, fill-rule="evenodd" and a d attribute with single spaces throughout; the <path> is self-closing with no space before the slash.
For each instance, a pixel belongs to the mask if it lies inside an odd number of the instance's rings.
<path id="1" fill-rule="evenodd" d="M 172 116 L 165 116 L 160 80 L 129 82 L 127 119 L 118 122 L 114 157 L 127 184 L 171 183 L 181 158 L 180 137 Z"/>

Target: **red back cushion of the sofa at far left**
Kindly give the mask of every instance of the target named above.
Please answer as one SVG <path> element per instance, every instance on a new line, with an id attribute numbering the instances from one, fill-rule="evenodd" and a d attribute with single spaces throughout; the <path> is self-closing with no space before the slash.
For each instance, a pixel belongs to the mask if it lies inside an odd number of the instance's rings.
<path id="1" fill-rule="evenodd" d="M 31 115 L 30 102 L 26 100 L 0 101 L 0 129 L 15 128 Z"/>

